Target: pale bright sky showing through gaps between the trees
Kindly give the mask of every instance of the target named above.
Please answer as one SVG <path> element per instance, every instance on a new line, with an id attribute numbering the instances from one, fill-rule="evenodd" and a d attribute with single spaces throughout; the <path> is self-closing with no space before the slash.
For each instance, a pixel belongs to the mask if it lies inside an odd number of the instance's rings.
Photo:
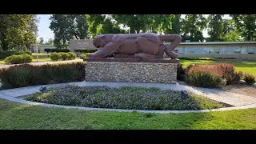
<path id="1" fill-rule="evenodd" d="M 208 16 L 209 14 L 205 14 Z M 54 38 L 54 32 L 50 30 L 50 16 L 51 14 L 38 14 L 39 23 L 38 23 L 38 39 L 43 38 L 44 41 L 48 41 L 49 38 Z M 182 14 L 182 18 L 185 18 L 185 14 Z M 224 18 L 230 18 L 228 14 L 224 15 Z M 207 31 L 203 32 L 204 37 L 208 37 Z"/>

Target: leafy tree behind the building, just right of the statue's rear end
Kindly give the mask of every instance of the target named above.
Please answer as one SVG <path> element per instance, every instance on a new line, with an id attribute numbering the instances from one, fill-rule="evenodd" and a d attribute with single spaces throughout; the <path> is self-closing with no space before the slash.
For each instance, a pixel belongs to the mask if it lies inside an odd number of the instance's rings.
<path id="1" fill-rule="evenodd" d="M 202 30 L 206 28 L 207 20 L 202 14 L 186 14 L 182 22 L 182 32 L 184 37 L 191 42 L 202 42 L 205 38 Z"/>

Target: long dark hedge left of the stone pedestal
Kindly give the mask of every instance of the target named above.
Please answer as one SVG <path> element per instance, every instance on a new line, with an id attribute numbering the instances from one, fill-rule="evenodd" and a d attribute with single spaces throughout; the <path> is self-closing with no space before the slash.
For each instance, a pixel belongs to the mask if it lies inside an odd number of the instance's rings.
<path id="1" fill-rule="evenodd" d="M 3 89 L 50 83 L 78 82 L 83 80 L 84 74 L 84 62 L 40 66 L 24 64 L 0 69 Z"/>

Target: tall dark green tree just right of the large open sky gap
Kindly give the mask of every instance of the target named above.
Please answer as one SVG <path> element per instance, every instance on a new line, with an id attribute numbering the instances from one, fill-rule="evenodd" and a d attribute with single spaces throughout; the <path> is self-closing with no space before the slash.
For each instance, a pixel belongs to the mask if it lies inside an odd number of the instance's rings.
<path id="1" fill-rule="evenodd" d="M 70 39 L 88 38 L 85 14 L 53 14 L 50 20 L 54 46 L 57 48 L 66 48 Z"/>

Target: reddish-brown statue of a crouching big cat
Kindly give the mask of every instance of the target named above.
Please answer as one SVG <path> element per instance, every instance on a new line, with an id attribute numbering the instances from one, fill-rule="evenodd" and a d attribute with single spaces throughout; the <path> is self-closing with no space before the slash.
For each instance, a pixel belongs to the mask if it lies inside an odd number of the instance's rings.
<path id="1" fill-rule="evenodd" d="M 164 41 L 171 42 L 169 46 Z M 158 35 L 153 33 L 141 34 L 99 34 L 93 44 L 100 48 L 89 58 L 163 58 L 166 53 L 170 58 L 177 58 L 174 48 L 182 41 L 178 34 Z"/>

